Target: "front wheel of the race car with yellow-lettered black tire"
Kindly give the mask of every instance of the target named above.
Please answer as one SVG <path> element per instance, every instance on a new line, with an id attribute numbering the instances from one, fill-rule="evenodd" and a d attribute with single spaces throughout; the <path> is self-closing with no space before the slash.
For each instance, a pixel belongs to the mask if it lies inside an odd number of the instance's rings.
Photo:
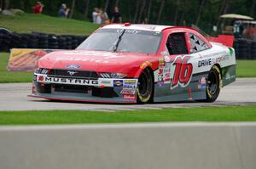
<path id="1" fill-rule="evenodd" d="M 153 102 L 154 97 L 154 78 L 150 70 L 145 69 L 141 73 L 137 82 L 137 103 L 147 104 Z"/>

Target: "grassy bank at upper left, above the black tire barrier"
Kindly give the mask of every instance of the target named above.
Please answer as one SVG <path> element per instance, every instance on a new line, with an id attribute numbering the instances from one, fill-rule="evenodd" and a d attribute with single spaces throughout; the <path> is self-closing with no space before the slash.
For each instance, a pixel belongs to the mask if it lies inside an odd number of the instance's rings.
<path id="1" fill-rule="evenodd" d="M 40 31 L 53 34 L 90 35 L 99 25 L 80 20 L 68 20 L 44 14 L 0 15 L 0 27 L 27 33 Z"/>

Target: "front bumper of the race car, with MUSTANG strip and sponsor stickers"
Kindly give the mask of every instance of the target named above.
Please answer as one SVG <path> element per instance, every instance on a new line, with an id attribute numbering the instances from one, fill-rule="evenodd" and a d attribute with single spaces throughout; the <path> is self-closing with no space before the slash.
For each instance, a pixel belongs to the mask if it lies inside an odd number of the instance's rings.
<path id="1" fill-rule="evenodd" d="M 34 74 L 30 97 L 101 103 L 137 103 L 137 79 L 70 78 Z"/>

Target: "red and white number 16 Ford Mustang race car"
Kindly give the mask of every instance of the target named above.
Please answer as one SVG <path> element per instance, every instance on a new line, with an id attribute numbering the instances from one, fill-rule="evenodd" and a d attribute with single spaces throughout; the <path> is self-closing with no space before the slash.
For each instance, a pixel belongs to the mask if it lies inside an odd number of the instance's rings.
<path id="1" fill-rule="evenodd" d="M 224 41 L 230 37 L 224 38 Z M 38 60 L 30 96 L 101 103 L 206 101 L 236 80 L 234 48 L 169 25 L 113 24 Z"/>

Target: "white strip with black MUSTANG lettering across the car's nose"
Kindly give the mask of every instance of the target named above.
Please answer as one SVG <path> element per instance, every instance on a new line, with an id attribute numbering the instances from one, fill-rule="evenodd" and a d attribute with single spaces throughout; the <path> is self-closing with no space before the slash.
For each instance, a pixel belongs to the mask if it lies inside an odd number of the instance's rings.
<path id="1" fill-rule="evenodd" d="M 49 77 L 49 76 L 38 76 L 38 82 L 77 84 L 77 85 L 87 85 L 87 86 L 98 85 L 98 80 L 73 79 L 73 78 Z"/>

